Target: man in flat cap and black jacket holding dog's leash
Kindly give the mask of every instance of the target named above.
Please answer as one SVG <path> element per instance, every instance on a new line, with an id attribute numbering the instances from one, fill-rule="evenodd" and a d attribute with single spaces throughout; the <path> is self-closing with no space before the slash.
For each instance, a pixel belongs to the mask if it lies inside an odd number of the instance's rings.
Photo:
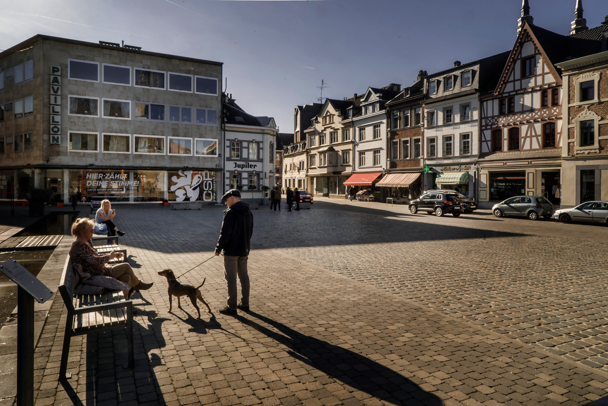
<path id="1" fill-rule="evenodd" d="M 219 232 L 215 255 L 224 255 L 224 277 L 228 285 L 227 305 L 220 309 L 222 314 L 237 314 L 237 309 L 249 311 L 249 275 L 247 258 L 251 235 L 254 232 L 254 215 L 249 204 L 241 202 L 241 192 L 230 189 L 222 201 L 228 208 L 224 210 L 222 228 Z M 241 303 L 237 304 L 237 277 L 241 281 Z"/>

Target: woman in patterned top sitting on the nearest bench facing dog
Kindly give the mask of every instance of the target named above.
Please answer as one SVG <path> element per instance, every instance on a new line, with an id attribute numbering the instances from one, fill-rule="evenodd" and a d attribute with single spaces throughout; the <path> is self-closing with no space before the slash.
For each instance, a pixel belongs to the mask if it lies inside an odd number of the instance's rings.
<path id="1" fill-rule="evenodd" d="M 113 266 L 108 265 L 109 260 L 120 259 L 123 256 L 122 252 L 112 251 L 105 255 L 99 255 L 95 252 L 95 249 L 88 243 L 88 240 L 93 236 L 94 228 L 95 223 L 89 218 L 78 218 L 72 224 L 72 235 L 76 237 L 76 241 L 72 243 L 69 252 L 72 263 L 80 264 L 83 272 L 88 272 L 91 276 L 103 275 L 128 283 L 131 286 L 129 297 L 131 297 L 133 291 L 139 292 L 150 289 L 154 282 L 145 283 L 140 281 L 129 264 L 123 262 Z"/>

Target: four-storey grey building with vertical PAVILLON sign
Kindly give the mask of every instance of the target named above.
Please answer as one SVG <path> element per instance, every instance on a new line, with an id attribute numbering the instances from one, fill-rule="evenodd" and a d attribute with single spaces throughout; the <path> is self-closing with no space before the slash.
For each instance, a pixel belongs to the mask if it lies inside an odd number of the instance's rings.
<path id="1" fill-rule="evenodd" d="M 222 64 L 36 35 L 0 53 L 0 199 L 218 201 Z"/>

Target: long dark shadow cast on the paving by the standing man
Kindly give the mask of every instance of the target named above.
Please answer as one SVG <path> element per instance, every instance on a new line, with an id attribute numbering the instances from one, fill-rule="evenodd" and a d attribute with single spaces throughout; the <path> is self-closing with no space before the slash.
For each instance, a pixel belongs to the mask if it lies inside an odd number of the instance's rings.
<path id="1" fill-rule="evenodd" d="M 295 331 L 255 312 L 247 314 L 277 329 L 273 331 L 249 318 L 237 315 L 244 325 L 250 326 L 289 348 L 289 355 L 313 368 L 344 382 L 356 390 L 364 391 L 377 399 L 396 405 L 424 404 L 439 406 L 443 403 L 432 393 L 401 374 L 350 349 L 316 339 Z"/>

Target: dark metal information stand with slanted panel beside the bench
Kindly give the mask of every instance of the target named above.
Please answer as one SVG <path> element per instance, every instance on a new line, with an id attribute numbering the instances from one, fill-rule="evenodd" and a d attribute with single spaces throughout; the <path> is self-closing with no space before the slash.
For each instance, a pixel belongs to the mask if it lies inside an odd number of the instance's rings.
<path id="1" fill-rule="evenodd" d="M 44 303 L 53 292 L 15 260 L 0 271 L 18 286 L 17 296 L 17 405 L 34 404 L 34 299 Z"/>

